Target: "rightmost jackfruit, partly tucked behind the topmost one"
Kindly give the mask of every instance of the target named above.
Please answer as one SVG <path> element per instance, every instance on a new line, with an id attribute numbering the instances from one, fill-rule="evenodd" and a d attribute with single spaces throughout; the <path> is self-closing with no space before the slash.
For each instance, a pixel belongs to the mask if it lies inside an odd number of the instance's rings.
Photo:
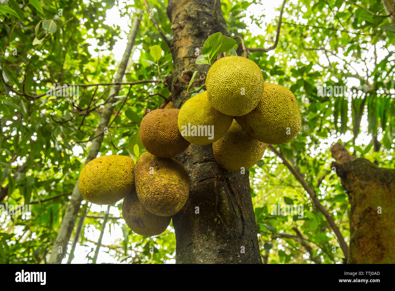
<path id="1" fill-rule="evenodd" d="M 302 126 L 299 106 L 293 93 L 272 83 L 265 83 L 261 101 L 254 110 L 235 119 L 247 133 L 271 145 L 292 141 Z"/>

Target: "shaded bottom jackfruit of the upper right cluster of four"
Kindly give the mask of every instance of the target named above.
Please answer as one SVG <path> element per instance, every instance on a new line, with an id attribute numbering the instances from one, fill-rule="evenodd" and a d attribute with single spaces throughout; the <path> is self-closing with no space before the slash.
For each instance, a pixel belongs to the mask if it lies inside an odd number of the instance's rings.
<path id="1" fill-rule="evenodd" d="M 213 143 L 214 158 L 223 168 L 229 171 L 241 171 L 250 169 L 258 163 L 267 144 L 254 139 L 246 133 L 233 120 L 229 130 L 224 136 Z"/>

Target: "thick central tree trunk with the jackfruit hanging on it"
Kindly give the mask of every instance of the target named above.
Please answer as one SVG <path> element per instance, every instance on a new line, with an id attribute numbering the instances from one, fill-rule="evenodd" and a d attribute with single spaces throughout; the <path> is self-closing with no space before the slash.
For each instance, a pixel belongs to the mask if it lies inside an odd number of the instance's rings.
<path id="1" fill-rule="evenodd" d="M 214 7 L 214 2 L 216 7 Z M 194 86 L 205 82 L 208 65 L 195 65 L 196 48 L 214 32 L 229 36 L 217 0 L 169 0 L 174 72 L 166 78 L 174 108 L 190 98 L 186 92 L 195 70 Z M 177 263 L 261 263 L 248 171 L 222 169 L 211 145 L 190 145 L 176 156 L 190 175 L 185 207 L 173 216 Z M 198 207 L 198 208 L 197 208 Z"/>

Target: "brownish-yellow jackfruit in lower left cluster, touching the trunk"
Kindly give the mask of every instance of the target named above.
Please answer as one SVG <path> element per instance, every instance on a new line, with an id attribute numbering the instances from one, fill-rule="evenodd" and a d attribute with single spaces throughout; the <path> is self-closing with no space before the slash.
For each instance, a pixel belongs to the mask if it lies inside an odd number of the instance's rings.
<path id="1" fill-rule="evenodd" d="M 171 216 L 184 207 L 189 195 L 189 177 L 174 158 L 158 158 L 145 152 L 135 169 L 137 197 L 150 213 Z"/>

